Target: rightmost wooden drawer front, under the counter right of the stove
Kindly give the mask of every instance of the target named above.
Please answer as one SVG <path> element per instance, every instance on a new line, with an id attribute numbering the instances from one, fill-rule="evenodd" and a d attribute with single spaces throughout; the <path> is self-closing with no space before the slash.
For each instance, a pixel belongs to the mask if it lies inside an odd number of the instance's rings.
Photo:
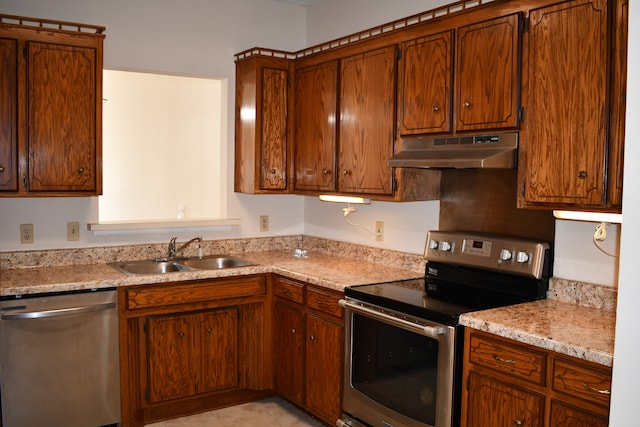
<path id="1" fill-rule="evenodd" d="M 611 370 L 556 358 L 553 361 L 553 389 L 590 402 L 609 405 Z"/>

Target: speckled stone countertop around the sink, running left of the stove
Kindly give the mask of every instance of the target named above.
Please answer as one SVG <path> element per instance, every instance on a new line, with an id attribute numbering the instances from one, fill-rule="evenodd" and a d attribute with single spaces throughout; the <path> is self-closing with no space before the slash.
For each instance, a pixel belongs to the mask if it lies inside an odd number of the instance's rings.
<path id="1" fill-rule="evenodd" d="M 107 264 L 0 270 L 0 296 L 166 283 L 269 272 L 338 291 L 351 285 L 413 279 L 422 276 L 417 271 L 315 252 L 310 252 L 307 258 L 296 258 L 292 251 L 243 253 L 238 256 L 252 261 L 256 265 L 222 270 L 183 271 L 137 276 L 126 275 Z"/>

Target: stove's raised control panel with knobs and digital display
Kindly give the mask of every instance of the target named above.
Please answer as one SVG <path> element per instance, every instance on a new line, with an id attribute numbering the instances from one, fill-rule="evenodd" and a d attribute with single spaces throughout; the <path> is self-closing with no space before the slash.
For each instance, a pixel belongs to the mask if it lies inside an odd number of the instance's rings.
<path id="1" fill-rule="evenodd" d="M 549 244 L 499 235 L 429 231 L 428 261 L 542 277 Z"/>

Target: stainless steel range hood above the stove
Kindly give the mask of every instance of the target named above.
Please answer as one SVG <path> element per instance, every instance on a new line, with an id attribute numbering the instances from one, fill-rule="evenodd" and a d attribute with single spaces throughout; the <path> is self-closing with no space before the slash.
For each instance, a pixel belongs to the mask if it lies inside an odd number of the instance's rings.
<path id="1" fill-rule="evenodd" d="M 496 168 L 516 167 L 517 133 L 463 135 L 438 138 L 407 138 L 389 160 L 404 168 Z"/>

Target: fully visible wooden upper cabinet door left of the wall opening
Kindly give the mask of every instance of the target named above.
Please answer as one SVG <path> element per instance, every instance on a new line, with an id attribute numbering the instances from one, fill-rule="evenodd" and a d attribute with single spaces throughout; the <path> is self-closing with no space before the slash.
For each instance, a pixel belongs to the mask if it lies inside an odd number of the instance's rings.
<path id="1" fill-rule="evenodd" d="M 29 191 L 97 191 L 96 50 L 27 43 Z"/>

